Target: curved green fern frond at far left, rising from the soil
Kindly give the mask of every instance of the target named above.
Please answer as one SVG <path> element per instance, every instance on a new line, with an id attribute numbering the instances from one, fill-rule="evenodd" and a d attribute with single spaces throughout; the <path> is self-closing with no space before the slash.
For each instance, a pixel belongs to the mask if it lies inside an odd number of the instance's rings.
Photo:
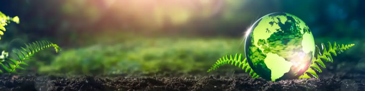
<path id="1" fill-rule="evenodd" d="M 8 73 L 19 74 L 18 72 L 16 72 L 16 69 L 20 69 L 20 70 L 25 69 L 25 68 L 21 67 L 20 64 L 28 66 L 28 64 L 26 62 L 24 62 L 24 60 L 30 59 L 38 51 L 44 50 L 45 48 L 49 48 L 49 47 L 54 47 L 56 52 L 61 51 L 61 48 L 59 48 L 57 44 L 53 44 L 50 41 L 35 41 L 35 43 L 33 42 L 33 44 L 28 43 L 25 45 L 26 45 L 25 48 L 20 47 L 21 48 L 20 50 L 19 49 L 13 50 L 13 52 L 16 55 L 16 57 L 18 58 L 18 60 L 4 57 L 3 58 L 4 60 L 2 60 L 0 62 L 1 68 L 3 68 Z M 8 53 L 3 52 L 1 57 L 3 57 L 4 55 L 8 55 Z M 5 65 L 7 65 L 7 66 L 5 66 Z M 4 73 L 4 72 L 0 70 L 0 73 Z"/>

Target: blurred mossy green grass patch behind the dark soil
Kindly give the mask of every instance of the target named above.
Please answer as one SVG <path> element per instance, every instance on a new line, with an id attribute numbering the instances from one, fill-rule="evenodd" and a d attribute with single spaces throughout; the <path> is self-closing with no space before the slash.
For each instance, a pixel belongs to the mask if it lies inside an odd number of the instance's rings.
<path id="1" fill-rule="evenodd" d="M 139 38 L 64 50 L 41 73 L 156 74 L 205 72 L 218 58 L 238 50 L 241 39 Z M 224 69 L 222 69 L 224 70 Z"/>

